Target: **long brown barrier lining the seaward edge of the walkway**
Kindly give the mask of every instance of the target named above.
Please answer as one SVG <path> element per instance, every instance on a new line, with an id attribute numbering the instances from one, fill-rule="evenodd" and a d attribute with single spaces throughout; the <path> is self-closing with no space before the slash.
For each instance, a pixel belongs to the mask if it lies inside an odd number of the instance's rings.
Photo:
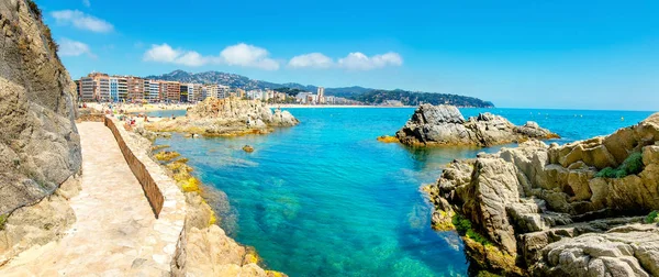
<path id="1" fill-rule="evenodd" d="M 104 123 L 105 126 L 108 126 L 112 131 L 112 134 L 114 134 L 114 138 L 116 138 L 116 143 L 119 144 L 119 148 L 121 148 L 121 153 L 126 159 L 129 167 L 131 167 L 131 170 L 135 175 L 135 178 L 137 178 L 137 180 L 142 185 L 144 195 L 146 196 L 148 203 L 154 210 L 154 214 L 156 215 L 156 218 L 158 218 L 160 211 L 163 210 L 163 203 L 165 202 L 165 199 L 163 198 L 163 192 L 158 188 L 158 185 L 150 176 L 149 171 L 146 169 L 144 164 L 142 164 L 142 162 L 137 157 L 135 157 L 135 154 L 133 154 L 131 148 L 126 145 L 123 137 L 121 136 L 121 133 L 114 125 L 114 121 L 112 121 L 112 119 L 110 118 L 104 118 Z"/>

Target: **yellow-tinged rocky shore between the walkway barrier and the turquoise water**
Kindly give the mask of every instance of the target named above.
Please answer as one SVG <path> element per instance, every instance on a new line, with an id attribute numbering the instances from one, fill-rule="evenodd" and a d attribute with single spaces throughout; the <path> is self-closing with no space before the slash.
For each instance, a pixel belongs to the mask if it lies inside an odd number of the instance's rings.
<path id="1" fill-rule="evenodd" d="M 282 273 L 266 270 L 253 247 L 243 246 L 228 237 L 217 224 L 221 218 L 211 208 L 228 209 L 224 192 L 215 190 L 192 176 L 193 168 L 179 153 L 168 151 L 167 145 L 153 145 L 149 131 L 135 128 L 129 141 L 132 147 L 148 152 L 176 181 L 186 197 L 186 223 L 181 233 L 177 256 L 171 268 L 175 276 L 259 276 L 281 277 Z M 149 137 L 149 138 L 147 138 Z M 222 209 L 222 208 L 221 208 Z"/>

